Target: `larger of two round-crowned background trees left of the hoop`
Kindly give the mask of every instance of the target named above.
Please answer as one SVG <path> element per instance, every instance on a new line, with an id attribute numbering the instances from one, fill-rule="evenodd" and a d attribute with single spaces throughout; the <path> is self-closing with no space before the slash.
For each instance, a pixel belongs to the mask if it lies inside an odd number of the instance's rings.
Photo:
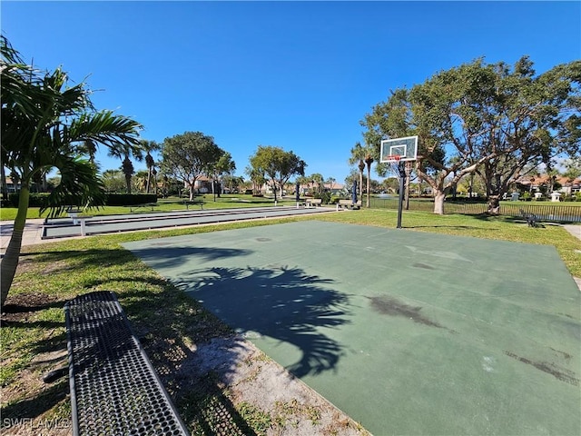
<path id="1" fill-rule="evenodd" d="M 222 148 L 214 143 L 212 136 L 202 132 L 176 134 L 163 140 L 162 168 L 188 187 L 192 201 L 196 180 L 212 173 L 222 154 Z"/>

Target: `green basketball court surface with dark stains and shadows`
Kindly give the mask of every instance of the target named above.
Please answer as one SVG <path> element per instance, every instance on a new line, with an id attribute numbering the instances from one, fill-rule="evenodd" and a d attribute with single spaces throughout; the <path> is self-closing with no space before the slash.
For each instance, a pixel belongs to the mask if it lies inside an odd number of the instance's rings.
<path id="1" fill-rule="evenodd" d="M 124 246 L 376 435 L 581 434 L 552 246 L 316 221 Z"/>

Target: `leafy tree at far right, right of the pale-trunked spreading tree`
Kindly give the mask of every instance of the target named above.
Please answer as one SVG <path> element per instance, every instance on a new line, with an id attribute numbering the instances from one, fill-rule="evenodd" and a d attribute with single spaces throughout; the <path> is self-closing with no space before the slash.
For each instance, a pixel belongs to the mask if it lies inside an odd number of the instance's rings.
<path id="1" fill-rule="evenodd" d="M 581 109 L 581 62 L 557 65 L 535 76 L 533 63 L 523 57 L 512 69 L 499 63 L 494 71 L 494 98 L 478 114 L 489 135 L 477 157 L 496 152 L 478 168 L 486 183 L 489 213 L 499 212 L 499 198 L 528 168 L 545 163 L 551 172 L 557 155 L 578 153 Z"/>

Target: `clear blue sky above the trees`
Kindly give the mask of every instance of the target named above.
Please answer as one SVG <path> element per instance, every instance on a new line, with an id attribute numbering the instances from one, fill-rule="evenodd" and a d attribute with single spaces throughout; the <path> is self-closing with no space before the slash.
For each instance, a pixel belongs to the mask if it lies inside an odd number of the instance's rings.
<path id="1" fill-rule="evenodd" d="M 537 73 L 581 58 L 579 2 L 15 2 L 2 32 L 26 61 L 87 79 L 98 109 L 162 142 L 201 131 L 243 175 L 258 145 L 342 183 L 359 121 L 390 89 L 485 57 Z M 97 159 L 102 170 L 120 162 Z M 144 168 L 144 163 L 136 163 Z"/>

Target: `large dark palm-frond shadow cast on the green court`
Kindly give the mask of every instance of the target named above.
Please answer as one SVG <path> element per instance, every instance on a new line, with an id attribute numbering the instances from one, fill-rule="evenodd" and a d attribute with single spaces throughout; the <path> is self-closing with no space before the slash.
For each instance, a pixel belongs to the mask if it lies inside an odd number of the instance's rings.
<path id="1" fill-rule="evenodd" d="M 348 297 L 333 281 L 300 268 L 207 268 L 173 283 L 248 339 L 269 336 L 294 345 L 300 360 L 286 367 L 297 377 L 332 370 L 343 354 L 325 328 L 349 322 Z"/>

